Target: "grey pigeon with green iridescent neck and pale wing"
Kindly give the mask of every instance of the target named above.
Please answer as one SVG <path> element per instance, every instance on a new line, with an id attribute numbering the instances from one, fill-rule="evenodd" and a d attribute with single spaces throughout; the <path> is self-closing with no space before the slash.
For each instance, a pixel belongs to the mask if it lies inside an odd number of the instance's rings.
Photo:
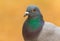
<path id="1" fill-rule="evenodd" d="M 22 28 L 24 41 L 60 41 L 60 28 L 43 19 L 39 8 L 29 5 L 24 17 L 28 16 Z"/>

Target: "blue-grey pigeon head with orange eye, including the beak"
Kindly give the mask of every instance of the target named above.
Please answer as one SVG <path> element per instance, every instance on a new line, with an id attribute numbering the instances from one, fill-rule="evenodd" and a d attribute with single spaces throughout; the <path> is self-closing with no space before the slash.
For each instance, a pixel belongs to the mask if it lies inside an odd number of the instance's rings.
<path id="1" fill-rule="evenodd" d="M 36 17 L 36 16 L 39 16 L 39 15 L 41 15 L 39 8 L 37 6 L 35 6 L 35 5 L 30 5 L 26 9 L 24 17 L 25 16 Z"/>

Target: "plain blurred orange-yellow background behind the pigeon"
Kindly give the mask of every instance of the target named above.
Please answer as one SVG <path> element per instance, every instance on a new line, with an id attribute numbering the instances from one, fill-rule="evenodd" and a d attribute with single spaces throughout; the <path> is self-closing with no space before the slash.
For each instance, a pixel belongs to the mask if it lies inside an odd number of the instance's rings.
<path id="1" fill-rule="evenodd" d="M 40 8 L 45 21 L 60 26 L 60 0 L 0 0 L 0 41 L 23 41 L 23 15 L 29 4 Z"/>

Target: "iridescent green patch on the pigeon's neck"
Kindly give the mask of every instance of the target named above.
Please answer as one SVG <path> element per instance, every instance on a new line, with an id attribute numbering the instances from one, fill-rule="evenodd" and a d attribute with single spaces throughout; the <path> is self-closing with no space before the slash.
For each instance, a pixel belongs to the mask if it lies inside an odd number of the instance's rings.
<path id="1" fill-rule="evenodd" d="M 40 19 L 40 17 L 31 18 L 28 20 L 29 29 L 31 29 L 31 31 L 38 30 L 40 27 L 42 27 L 42 23 L 43 21 Z"/>

